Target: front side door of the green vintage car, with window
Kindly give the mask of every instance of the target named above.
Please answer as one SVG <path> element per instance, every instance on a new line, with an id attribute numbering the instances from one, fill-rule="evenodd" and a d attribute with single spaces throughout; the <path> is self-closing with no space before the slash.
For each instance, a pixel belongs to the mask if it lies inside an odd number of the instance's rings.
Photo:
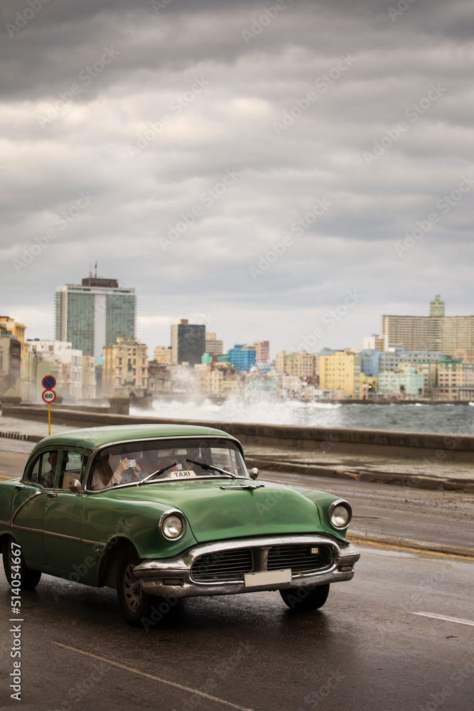
<path id="1" fill-rule="evenodd" d="M 84 579 L 81 527 L 85 496 L 70 491 L 69 484 L 78 479 L 84 484 L 87 453 L 80 449 L 63 449 L 55 490 L 45 506 L 46 562 L 57 574 L 74 573 L 74 579 Z M 79 578 L 77 578 L 79 574 Z"/>

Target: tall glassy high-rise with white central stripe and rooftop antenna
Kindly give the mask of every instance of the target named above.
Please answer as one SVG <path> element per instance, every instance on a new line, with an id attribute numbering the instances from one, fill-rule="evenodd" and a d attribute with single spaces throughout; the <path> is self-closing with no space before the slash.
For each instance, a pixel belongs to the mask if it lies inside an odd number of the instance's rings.
<path id="1" fill-rule="evenodd" d="M 120 288 L 117 279 L 65 284 L 55 295 L 55 338 L 97 358 L 117 338 L 135 337 L 135 311 L 135 289 Z"/>

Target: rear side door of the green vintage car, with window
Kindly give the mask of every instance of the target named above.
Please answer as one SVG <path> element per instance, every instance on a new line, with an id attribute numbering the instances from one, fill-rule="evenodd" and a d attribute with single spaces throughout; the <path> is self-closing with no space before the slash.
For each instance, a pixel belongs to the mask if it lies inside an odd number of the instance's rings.
<path id="1" fill-rule="evenodd" d="M 21 545 L 27 565 L 45 565 L 44 517 L 53 493 L 58 449 L 38 453 L 15 486 L 11 507 L 11 528 Z"/>

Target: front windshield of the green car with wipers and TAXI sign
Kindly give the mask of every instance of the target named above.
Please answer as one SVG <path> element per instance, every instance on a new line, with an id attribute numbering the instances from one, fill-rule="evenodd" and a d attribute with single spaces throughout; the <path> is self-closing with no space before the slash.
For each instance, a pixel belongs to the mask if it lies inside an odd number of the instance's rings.
<path id="1" fill-rule="evenodd" d="M 242 476 L 249 477 L 242 454 L 228 439 L 135 440 L 101 449 L 87 488 L 100 491 L 126 483 Z"/>

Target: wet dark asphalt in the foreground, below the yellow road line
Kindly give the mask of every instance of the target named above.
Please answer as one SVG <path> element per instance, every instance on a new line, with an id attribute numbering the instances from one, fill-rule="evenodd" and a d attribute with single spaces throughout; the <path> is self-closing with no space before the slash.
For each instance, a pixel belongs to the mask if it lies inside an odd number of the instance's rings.
<path id="1" fill-rule="evenodd" d="M 43 576 L 21 598 L 21 705 L 1 574 L 0 707 L 472 710 L 474 561 L 363 547 L 356 570 L 319 611 L 278 593 L 188 599 L 148 631 L 113 591 Z"/>

